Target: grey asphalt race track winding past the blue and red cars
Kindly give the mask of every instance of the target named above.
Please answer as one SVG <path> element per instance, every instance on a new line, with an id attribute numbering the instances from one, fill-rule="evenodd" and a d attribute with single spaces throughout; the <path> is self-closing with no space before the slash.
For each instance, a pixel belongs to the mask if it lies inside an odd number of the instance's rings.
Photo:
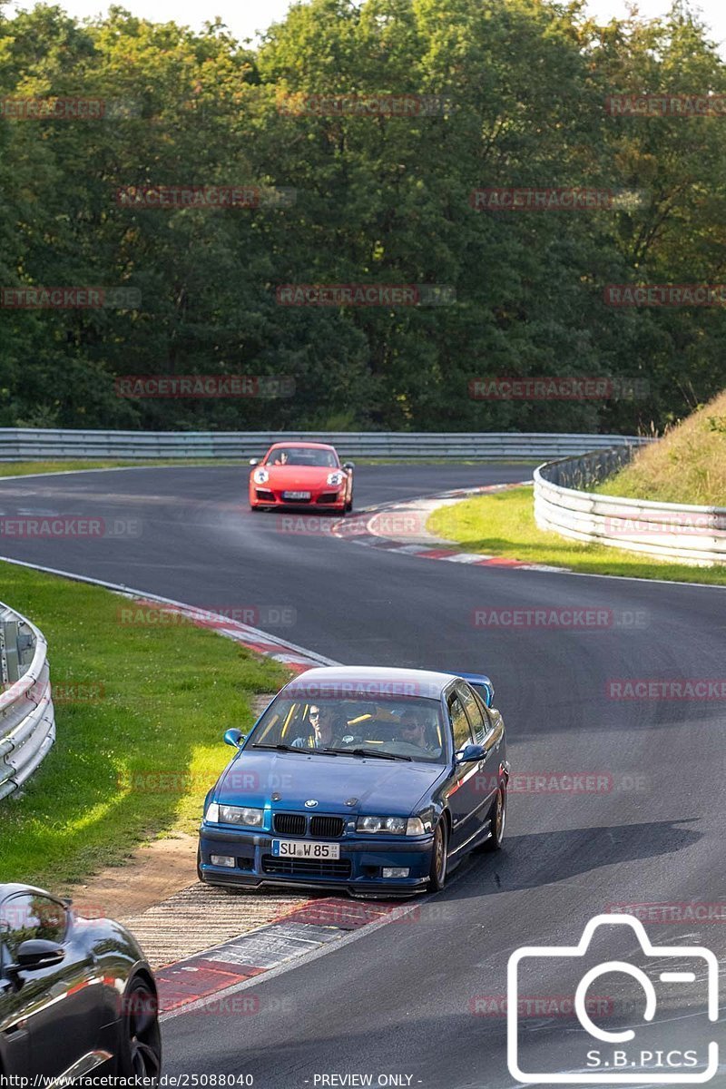
<path id="1" fill-rule="evenodd" d="M 255 1015 L 200 1010 L 172 1018 L 165 1072 L 234 1076 L 227 1084 L 250 1075 L 258 1089 L 499 1089 L 517 1084 L 503 1011 L 507 960 L 520 945 L 573 945 L 614 904 L 661 904 L 673 906 L 643 908 L 653 942 L 703 944 L 723 963 L 726 906 L 721 925 L 652 919 L 682 904 L 698 905 L 691 914 L 715 905 L 713 915 L 726 901 L 724 700 L 614 699 L 606 683 L 726 677 L 724 591 L 436 563 L 331 539 L 324 527 L 291 533 L 275 515 L 249 513 L 243 473 L 138 468 L 0 480 L 0 516 L 91 515 L 106 527 L 97 538 L 4 537 L 0 552 L 200 607 L 257 610 L 260 627 L 267 619 L 271 633 L 348 663 L 485 671 L 520 778 L 502 853 L 467 860 L 409 922 L 266 977 L 253 988 Z M 521 465 L 361 466 L 356 505 L 528 475 Z M 569 607 L 606 611 L 608 620 L 578 631 L 506 626 L 513 609 Z M 477 626 L 476 610 L 502 623 Z M 553 788 L 563 774 L 580 776 L 577 791 Z M 613 927 L 594 963 L 627 959 L 636 949 L 632 931 Z M 663 959 L 654 958 L 653 979 Z M 526 1069 L 582 1070 L 594 1062 L 588 1051 L 600 1049 L 607 1079 L 618 1049 L 642 1042 L 656 1055 L 665 1041 L 670 1053 L 698 1049 L 701 1057 L 709 1040 L 724 1044 L 723 1024 L 703 1016 L 702 966 L 690 984 L 659 982 L 650 1026 L 644 998 L 633 1006 L 622 977 L 598 981 L 590 994 L 602 1024 L 633 1025 L 638 1036 L 627 1045 L 591 1037 L 583 1044 L 565 1001 L 581 966 L 546 958 L 525 974 Z M 678 1085 L 688 1084 L 682 1069 Z M 709 1084 L 726 1085 L 724 1069 Z"/>

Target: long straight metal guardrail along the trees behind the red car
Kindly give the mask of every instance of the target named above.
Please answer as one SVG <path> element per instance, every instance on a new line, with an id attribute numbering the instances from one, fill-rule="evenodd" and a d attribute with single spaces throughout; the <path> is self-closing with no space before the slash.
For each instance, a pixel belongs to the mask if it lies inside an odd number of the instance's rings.
<path id="1" fill-rule="evenodd" d="M 636 436 L 516 431 L 72 431 L 0 428 L 0 462 L 36 458 L 260 457 L 272 442 L 332 442 L 344 457 L 477 458 L 561 457 L 616 442 L 640 444 Z"/>

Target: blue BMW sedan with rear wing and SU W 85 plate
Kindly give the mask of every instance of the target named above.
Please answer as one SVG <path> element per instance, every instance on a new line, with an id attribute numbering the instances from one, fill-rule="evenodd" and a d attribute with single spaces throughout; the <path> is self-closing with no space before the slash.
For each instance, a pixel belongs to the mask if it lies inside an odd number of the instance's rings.
<path id="1" fill-rule="evenodd" d="M 312 669 L 275 696 L 205 802 L 209 884 L 410 895 L 497 851 L 509 764 L 488 677 Z"/>

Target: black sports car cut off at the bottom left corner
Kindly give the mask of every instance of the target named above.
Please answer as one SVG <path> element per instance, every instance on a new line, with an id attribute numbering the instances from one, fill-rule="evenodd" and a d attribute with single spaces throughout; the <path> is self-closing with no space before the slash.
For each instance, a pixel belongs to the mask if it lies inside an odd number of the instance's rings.
<path id="1" fill-rule="evenodd" d="M 157 988 L 136 940 L 110 919 L 0 884 L 0 1085 L 3 1078 L 156 1078 Z"/>

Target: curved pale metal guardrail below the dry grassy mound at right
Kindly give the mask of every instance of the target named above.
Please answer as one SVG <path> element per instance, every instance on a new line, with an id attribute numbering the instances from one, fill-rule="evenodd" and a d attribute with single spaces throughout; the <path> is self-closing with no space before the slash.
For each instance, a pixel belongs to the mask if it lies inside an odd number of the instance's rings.
<path id="1" fill-rule="evenodd" d="M 534 470 L 534 519 L 573 540 L 698 566 L 726 563 L 726 507 L 690 506 L 582 491 L 627 464 L 626 445 L 564 457 Z"/>

